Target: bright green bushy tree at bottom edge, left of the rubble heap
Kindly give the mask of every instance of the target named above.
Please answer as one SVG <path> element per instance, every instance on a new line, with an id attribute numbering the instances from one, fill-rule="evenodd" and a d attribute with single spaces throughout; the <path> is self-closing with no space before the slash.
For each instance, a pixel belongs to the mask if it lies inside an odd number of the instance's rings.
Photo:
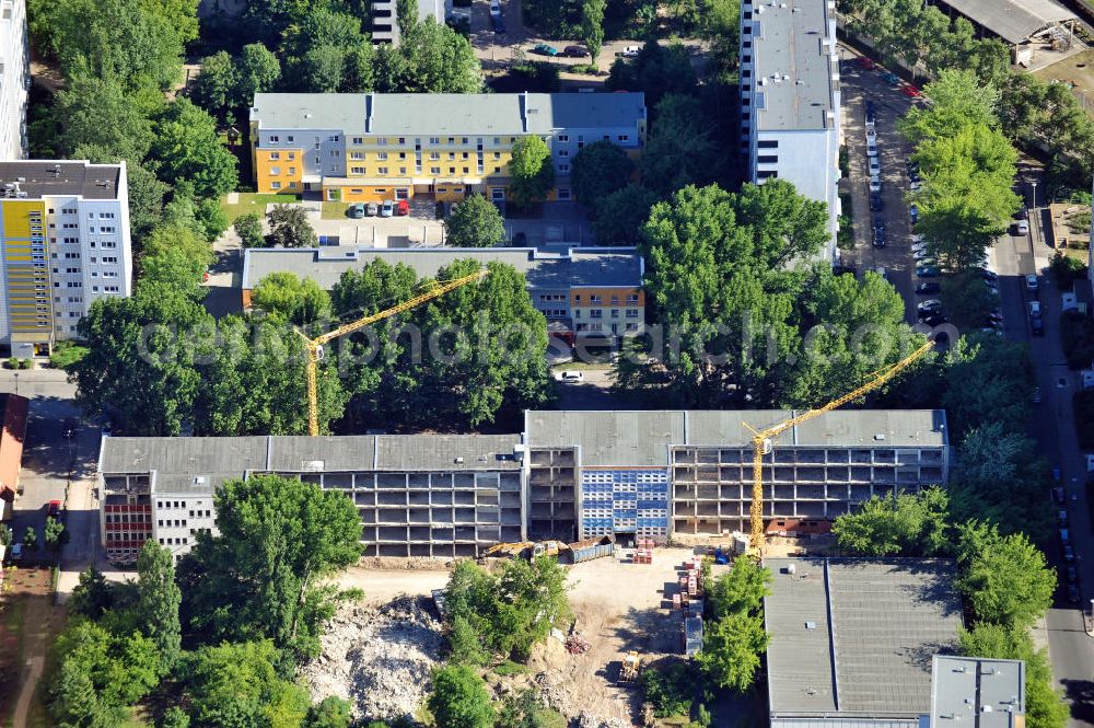
<path id="1" fill-rule="evenodd" d="M 282 679 L 277 647 L 260 642 L 202 647 L 185 668 L 190 716 L 199 726 L 298 728 L 307 691 Z"/>

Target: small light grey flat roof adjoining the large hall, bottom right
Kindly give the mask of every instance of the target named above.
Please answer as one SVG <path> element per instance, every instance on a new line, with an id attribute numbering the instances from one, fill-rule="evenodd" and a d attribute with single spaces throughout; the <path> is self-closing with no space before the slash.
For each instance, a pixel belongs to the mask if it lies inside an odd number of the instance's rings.
<path id="1" fill-rule="evenodd" d="M 1025 714 L 1025 662 L 934 656 L 931 728 L 1015 728 Z"/>

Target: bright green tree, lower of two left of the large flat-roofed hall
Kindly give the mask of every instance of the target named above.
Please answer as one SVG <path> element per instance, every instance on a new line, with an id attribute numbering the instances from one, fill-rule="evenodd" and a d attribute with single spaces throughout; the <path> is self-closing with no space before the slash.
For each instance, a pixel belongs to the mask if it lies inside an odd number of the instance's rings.
<path id="1" fill-rule="evenodd" d="M 715 685 L 744 692 L 756 681 L 760 655 L 767 651 L 769 639 L 761 617 L 730 614 L 706 628 L 697 660 Z"/>

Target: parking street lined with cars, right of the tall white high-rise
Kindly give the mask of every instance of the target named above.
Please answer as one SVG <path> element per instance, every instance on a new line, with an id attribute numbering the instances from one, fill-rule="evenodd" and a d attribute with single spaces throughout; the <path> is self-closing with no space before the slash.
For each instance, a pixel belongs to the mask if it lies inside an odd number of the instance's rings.
<path id="1" fill-rule="evenodd" d="M 884 71 L 866 69 L 857 61 L 858 54 L 840 47 L 840 79 L 843 107 L 843 134 L 848 150 L 850 177 L 840 183 L 850 193 L 854 219 L 854 250 L 845 251 L 843 258 L 859 271 L 884 268 L 889 281 L 905 300 L 906 319 L 916 323 L 916 304 L 929 297 L 916 294 L 916 277 L 911 253 L 911 223 L 908 217 L 909 180 L 905 160 L 910 153 L 896 130 L 898 118 L 908 113 L 912 100 L 892 88 Z M 866 101 L 875 113 L 876 159 L 880 165 L 881 201 L 883 209 L 870 207 L 870 169 L 866 153 Z M 875 246 L 874 223 L 885 228 L 885 245 Z M 936 280 L 936 279 L 931 279 Z"/>

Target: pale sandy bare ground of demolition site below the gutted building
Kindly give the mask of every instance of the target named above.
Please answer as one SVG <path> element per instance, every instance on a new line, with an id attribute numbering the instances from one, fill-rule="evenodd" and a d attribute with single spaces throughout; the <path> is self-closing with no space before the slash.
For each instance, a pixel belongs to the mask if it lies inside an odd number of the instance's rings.
<path id="1" fill-rule="evenodd" d="M 615 558 L 598 558 L 570 567 L 570 604 L 574 632 L 590 643 L 584 655 L 570 655 L 557 639 L 537 648 L 529 668 L 548 693 L 549 702 L 568 717 L 581 712 L 612 725 L 633 725 L 639 719 L 641 691 L 617 686 L 622 655 L 637 650 L 651 662 L 679 651 L 682 614 L 672 612 L 678 570 L 691 548 L 659 548 L 653 564 L 631 564 L 631 551 Z M 353 567 L 340 579 L 342 587 L 364 591 L 365 602 L 388 602 L 400 594 L 429 594 L 444 587 L 446 568 L 439 563 L 375 568 Z M 426 568 L 420 568 L 426 567 Z M 720 567 L 715 567 L 720 568 Z M 715 574 L 717 575 L 717 574 Z"/>

